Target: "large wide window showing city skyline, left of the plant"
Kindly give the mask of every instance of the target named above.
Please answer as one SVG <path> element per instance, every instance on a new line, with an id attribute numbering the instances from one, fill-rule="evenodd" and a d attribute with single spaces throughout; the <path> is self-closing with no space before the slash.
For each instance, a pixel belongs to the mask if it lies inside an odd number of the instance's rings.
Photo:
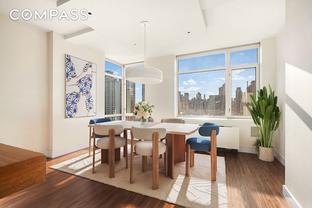
<path id="1" fill-rule="evenodd" d="M 179 56 L 178 116 L 244 117 L 256 94 L 258 44 Z"/>

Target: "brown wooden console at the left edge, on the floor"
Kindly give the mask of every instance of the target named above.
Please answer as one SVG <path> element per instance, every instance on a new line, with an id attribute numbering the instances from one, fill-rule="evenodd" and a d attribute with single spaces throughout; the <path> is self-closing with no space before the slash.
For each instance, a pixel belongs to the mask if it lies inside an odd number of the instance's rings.
<path id="1" fill-rule="evenodd" d="M 0 198 L 45 181 L 45 154 L 0 144 Z"/>

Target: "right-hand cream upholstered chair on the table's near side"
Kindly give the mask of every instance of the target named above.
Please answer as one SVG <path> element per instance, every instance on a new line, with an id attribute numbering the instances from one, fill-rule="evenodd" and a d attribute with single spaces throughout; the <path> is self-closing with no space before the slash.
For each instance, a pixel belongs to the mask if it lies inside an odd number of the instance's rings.
<path id="1" fill-rule="evenodd" d="M 167 131 L 165 128 L 131 128 L 131 159 L 130 159 L 130 183 L 133 184 L 133 159 L 137 155 L 142 155 L 142 172 L 147 171 L 147 156 L 153 158 L 153 186 L 152 189 L 159 188 L 159 154 L 164 153 L 164 173 L 167 176 L 167 146 L 159 141 Z M 135 143 L 134 138 L 139 139 Z"/>

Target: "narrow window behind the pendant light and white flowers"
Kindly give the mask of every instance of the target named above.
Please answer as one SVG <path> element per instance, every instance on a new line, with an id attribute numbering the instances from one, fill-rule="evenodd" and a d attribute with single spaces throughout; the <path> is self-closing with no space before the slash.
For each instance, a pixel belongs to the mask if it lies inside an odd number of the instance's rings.
<path id="1" fill-rule="evenodd" d="M 144 62 L 137 64 L 128 64 L 127 67 L 144 67 Z M 126 120 L 133 120 L 133 107 L 139 101 L 144 101 L 145 85 L 135 82 L 126 82 Z"/>

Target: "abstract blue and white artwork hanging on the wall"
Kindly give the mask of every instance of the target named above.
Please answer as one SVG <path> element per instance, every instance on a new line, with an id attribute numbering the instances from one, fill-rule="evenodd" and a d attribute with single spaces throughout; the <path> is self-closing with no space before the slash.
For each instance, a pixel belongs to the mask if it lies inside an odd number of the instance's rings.
<path id="1" fill-rule="evenodd" d="M 66 118 L 94 116 L 97 65 L 77 57 L 66 57 Z"/>

